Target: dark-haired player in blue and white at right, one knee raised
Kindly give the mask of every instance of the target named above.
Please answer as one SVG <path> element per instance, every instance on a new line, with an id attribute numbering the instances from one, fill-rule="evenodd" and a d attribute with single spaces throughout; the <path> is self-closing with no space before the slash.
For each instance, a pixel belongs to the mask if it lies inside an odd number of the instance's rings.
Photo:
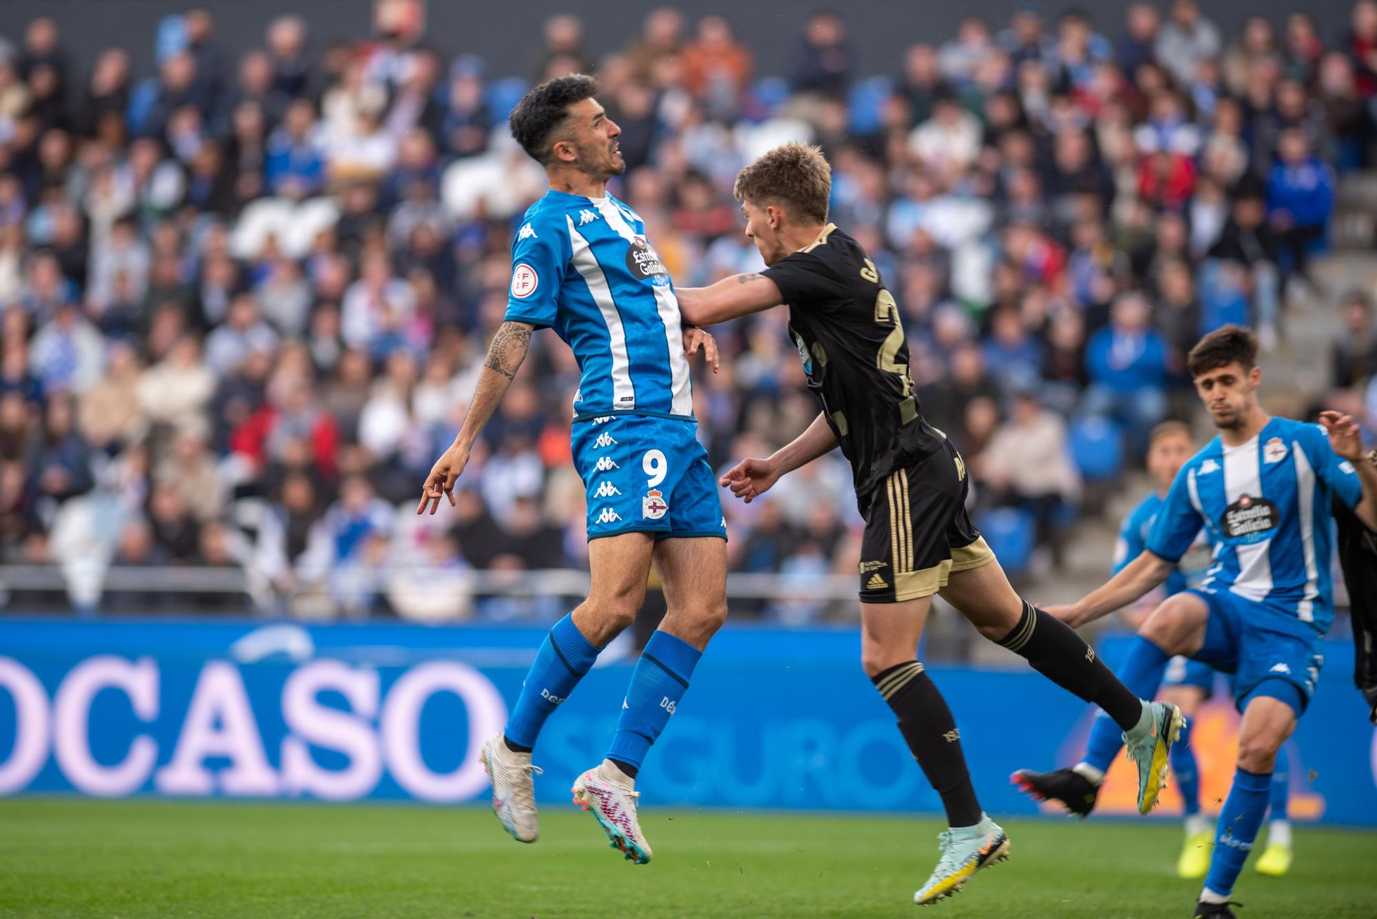
<path id="1" fill-rule="evenodd" d="M 1162 583 L 1202 528 L 1215 545 L 1205 581 L 1153 611 L 1121 675 L 1151 696 L 1172 655 L 1234 673 L 1243 714 L 1238 768 L 1194 913 L 1232 919 L 1228 898 L 1267 812 L 1276 753 L 1315 691 L 1334 616 L 1330 501 L 1377 528 L 1377 469 L 1362 461 L 1362 432 L 1349 415 L 1326 411 L 1316 426 L 1263 410 L 1257 338 L 1248 329 L 1205 336 L 1188 366 L 1219 436 L 1176 475 L 1146 550 L 1104 586 L 1049 612 L 1073 626 L 1097 619 Z"/>

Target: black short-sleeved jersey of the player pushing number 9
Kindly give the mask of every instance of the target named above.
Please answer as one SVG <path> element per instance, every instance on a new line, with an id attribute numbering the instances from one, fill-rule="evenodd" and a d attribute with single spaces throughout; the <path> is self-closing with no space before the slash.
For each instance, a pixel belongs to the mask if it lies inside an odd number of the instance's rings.
<path id="1" fill-rule="evenodd" d="M 789 304 L 789 336 L 808 388 L 865 501 L 894 469 L 932 454 L 945 439 L 918 414 L 894 296 L 865 249 L 830 223 L 764 275 Z"/>

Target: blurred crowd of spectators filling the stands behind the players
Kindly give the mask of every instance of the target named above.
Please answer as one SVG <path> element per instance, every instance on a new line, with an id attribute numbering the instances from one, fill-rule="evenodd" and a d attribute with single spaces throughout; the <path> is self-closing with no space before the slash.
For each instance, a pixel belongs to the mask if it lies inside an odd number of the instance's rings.
<path id="1" fill-rule="evenodd" d="M 457 510 L 413 515 L 504 312 L 512 230 L 545 190 L 505 127 L 533 81 L 599 77 L 628 165 L 611 191 L 679 285 L 757 270 L 737 171 L 782 140 L 823 147 L 832 220 L 895 293 L 923 411 L 964 451 L 1015 570 L 1059 545 L 1086 480 L 1115 482 L 1155 422 L 1190 411 L 1202 332 L 1245 322 L 1276 345 L 1287 300 L 1314 292 L 1336 175 L 1370 164 L 1373 0 L 1332 36 L 1305 12 L 1230 36 L 1195 0 L 1122 22 L 1022 3 L 863 66 L 844 15 L 800 15 L 784 74 L 756 72 L 730 17 L 653 10 L 622 48 L 588 25 L 548 19 L 529 73 L 501 78 L 424 36 L 337 41 L 293 17 L 233 55 L 209 11 L 169 17 L 146 80 L 143 50 L 77 61 L 52 18 L 6 36 L 0 563 L 248 572 L 246 596 L 207 608 L 558 612 L 465 590 L 474 571 L 585 563 L 578 374 L 554 334 Z M 1373 310 L 1363 292 L 1343 310 L 1333 382 L 1371 426 Z M 716 329 L 722 373 L 695 367 L 719 466 L 817 413 L 785 318 Z M 841 457 L 724 504 L 733 568 L 799 586 L 759 612 L 823 615 L 810 579 L 858 557 Z M 99 605 L 121 603 L 189 605 Z"/>

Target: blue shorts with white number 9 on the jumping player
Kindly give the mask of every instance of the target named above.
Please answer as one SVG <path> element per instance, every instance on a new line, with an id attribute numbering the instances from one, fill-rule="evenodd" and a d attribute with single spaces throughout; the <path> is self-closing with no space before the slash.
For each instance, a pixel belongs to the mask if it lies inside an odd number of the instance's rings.
<path id="1" fill-rule="evenodd" d="M 727 538 L 717 479 L 698 425 L 654 415 L 576 421 L 574 468 L 588 495 L 588 538 L 622 532 Z"/>

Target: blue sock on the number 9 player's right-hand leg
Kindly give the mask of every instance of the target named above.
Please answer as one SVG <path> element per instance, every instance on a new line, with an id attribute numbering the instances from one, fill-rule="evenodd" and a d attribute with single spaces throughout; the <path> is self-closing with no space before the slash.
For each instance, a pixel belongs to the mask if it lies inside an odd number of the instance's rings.
<path id="1" fill-rule="evenodd" d="M 640 761 L 679 707 L 702 652 L 683 638 L 655 630 L 631 674 L 609 759 L 640 769 Z"/>

